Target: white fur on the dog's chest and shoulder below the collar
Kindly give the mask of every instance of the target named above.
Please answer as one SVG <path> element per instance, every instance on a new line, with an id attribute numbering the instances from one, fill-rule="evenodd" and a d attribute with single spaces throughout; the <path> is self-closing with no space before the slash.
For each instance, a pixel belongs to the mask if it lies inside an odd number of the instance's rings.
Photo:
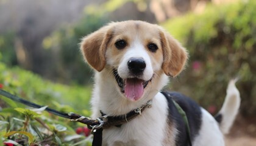
<path id="1" fill-rule="evenodd" d="M 152 107 L 120 128 L 103 131 L 103 145 L 162 145 L 165 138 L 168 106 L 165 97 L 158 93 Z"/>

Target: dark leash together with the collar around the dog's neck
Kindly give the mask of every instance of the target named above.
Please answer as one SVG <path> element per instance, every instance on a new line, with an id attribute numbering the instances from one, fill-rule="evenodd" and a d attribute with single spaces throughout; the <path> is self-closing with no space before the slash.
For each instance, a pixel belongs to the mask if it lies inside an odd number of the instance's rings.
<path id="1" fill-rule="evenodd" d="M 7 91 L 4 91 L 0 89 L 0 95 L 7 97 L 15 102 L 22 103 L 24 105 L 30 106 L 32 108 L 41 108 L 42 105 L 37 105 L 33 102 L 29 102 L 28 100 L 21 99 L 18 96 L 15 96 L 13 94 L 10 94 Z M 106 128 L 112 127 L 112 126 L 120 126 L 124 123 L 129 122 L 130 120 L 134 119 L 138 115 L 140 115 L 144 109 L 151 108 L 152 100 L 149 100 L 145 105 L 142 105 L 140 108 L 133 109 L 127 114 L 123 114 L 120 116 L 101 116 L 98 117 L 98 119 L 93 120 L 89 117 L 81 116 L 79 114 L 75 113 L 62 113 L 60 111 L 57 111 L 52 108 L 46 108 L 45 111 L 48 111 L 49 113 L 55 114 L 60 117 L 65 117 L 66 119 L 70 119 L 71 121 L 76 121 L 80 123 L 84 123 L 87 125 L 87 127 L 91 128 L 93 132 L 93 146 L 101 146 L 102 145 L 102 131 Z"/>

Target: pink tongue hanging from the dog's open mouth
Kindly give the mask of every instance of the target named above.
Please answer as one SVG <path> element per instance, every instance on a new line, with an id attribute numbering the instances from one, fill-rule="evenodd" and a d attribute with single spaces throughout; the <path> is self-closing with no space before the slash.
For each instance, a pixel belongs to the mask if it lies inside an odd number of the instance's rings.
<path id="1" fill-rule="evenodd" d="M 127 78 L 124 94 L 130 100 L 138 100 L 144 92 L 143 81 L 138 78 Z"/>

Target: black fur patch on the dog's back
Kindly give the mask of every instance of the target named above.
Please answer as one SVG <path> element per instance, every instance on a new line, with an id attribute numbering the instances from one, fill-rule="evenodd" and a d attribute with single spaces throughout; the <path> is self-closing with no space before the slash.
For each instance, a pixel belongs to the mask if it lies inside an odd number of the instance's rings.
<path id="1" fill-rule="evenodd" d="M 162 92 L 168 101 L 168 122 L 174 123 L 176 125 L 179 134 L 176 138 L 176 145 L 187 146 L 188 145 L 188 136 L 186 131 L 185 122 L 182 119 L 179 111 L 174 105 L 173 101 L 177 102 L 180 107 L 187 114 L 188 124 L 190 127 L 191 141 L 193 142 L 194 138 L 199 134 L 199 130 L 202 125 L 202 112 L 201 107 L 197 105 L 196 102 L 191 100 L 189 97 L 180 94 L 179 92 Z"/>

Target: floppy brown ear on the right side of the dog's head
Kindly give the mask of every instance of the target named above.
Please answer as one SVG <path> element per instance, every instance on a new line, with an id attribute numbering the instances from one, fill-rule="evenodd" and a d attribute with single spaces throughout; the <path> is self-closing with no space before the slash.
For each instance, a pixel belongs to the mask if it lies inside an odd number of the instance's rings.
<path id="1" fill-rule="evenodd" d="M 163 47 L 162 69 L 166 75 L 175 77 L 184 68 L 188 59 L 188 53 L 169 33 L 161 31 L 160 37 Z"/>

